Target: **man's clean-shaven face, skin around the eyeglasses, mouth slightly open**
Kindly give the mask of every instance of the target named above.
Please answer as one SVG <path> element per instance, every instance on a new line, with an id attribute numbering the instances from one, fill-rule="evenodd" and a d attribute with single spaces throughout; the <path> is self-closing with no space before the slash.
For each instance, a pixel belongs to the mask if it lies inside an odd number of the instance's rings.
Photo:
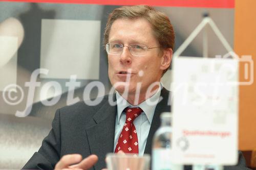
<path id="1" fill-rule="evenodd" d="M 147 47 L 159 46 L 158 41 L 153 36 L 150 23 L 143 19 L 117 19 L 109 34 L 109 43 L 143 44 Z M 161 79 L 163 67 L 163 57 L 159 56 L 160 48 L 152 48 L 146 51 L 145 56 L 133 56 L 127 46 L 123 47 L 120 55 L 108 55 L 109 78 L 112 85 L 122 82 L 115 89 L 123 94 L 124 89 L 128 89 L 128 94 L 135 94 L 136 87 L 141 88 L 139 93 L 145 93 L 148 86 Z M 127 71 L 131 69 L 131 74 Z M 127 82 L 127 77 L 130 81 Z M 138 92 L 138 91 L 137 91 Z"/>

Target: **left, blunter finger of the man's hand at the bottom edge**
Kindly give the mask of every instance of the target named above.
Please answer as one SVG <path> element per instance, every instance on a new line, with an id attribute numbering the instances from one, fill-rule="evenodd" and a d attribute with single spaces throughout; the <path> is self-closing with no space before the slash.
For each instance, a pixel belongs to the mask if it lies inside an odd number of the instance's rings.
<path id="1" fill-rule="evenodd" d="M 82 160 L 82 156 L 79 154 L 64 155 L 55 165 L 55 169 L 67 168 L 69 165 L 78 163 Z"/>

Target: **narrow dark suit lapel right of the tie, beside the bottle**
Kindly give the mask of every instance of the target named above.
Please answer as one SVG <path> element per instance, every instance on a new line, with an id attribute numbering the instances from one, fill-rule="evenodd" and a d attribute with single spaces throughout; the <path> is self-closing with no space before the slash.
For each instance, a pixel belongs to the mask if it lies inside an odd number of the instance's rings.
<path id="1" fill-rule="evenodd" d="M 170 104 L 168 103 L 169 91 L 163 88 L 161 90 L 161 96 L 163 99 L 156 106 L 154 117 L 150 127 L 150 132 L 147 136 L 144 154 L 151 154 L 153 137 L 157 129 L 160 127 L 160 114 L 162 112 L 170 112 Z"/>

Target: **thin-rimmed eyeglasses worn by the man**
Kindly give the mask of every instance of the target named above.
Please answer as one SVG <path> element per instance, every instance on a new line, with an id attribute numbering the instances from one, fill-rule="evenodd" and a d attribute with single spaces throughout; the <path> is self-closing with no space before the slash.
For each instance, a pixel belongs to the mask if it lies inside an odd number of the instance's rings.
<path id="1" fill-rule="evenodd" d="M 120 55 L 122 54 L 124 46 L 127 46 L 127 45 L 123 45 L 120 43 L 107 43 L 106 52 L 111 55 Z M 147 47 L 146 45 L 142 45 L 142 44 L 130 44 L 127 47 L 129 48 L 129 51 L 133 56 L 141 57 L 146 55 L 146 52 L 148 49 L 159 48 L 160 46 Z"/>

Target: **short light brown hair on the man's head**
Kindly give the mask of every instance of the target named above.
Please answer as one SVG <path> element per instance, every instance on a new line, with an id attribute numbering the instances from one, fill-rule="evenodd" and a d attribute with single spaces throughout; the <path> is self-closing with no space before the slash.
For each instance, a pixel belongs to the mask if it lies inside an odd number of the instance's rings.
<path id="1" fill-rule="evenodd" d="M 112 13 L 110 13 L 104 32 L 104 45 L 109 42 L 109 34 L 113 22 L 120 18 L 146 19 L 151 24 L 153 34 L 159 42 L 160 47 L 162 49 L 172 48 L 172 50 L 174 50 L 175 34 L 169 18 L 163 12 L 157 11 L 155 8 L 145 5 L 123 6 L 116 8 Z M 168 68 L 163 71 L 163 74 L 167 70 Z"/>

